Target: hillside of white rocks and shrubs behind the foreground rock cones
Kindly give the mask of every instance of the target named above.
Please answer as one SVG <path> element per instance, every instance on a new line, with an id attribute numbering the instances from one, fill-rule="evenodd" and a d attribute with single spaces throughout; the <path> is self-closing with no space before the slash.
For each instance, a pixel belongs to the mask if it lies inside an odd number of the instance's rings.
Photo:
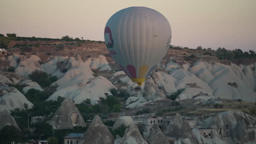
<path id="1" fill-rule="evenodd" d="M 53 116 L 64 98 L 85 122 L 96 114 L 107 122 L 180 113 L 202 123 L 226 111 L 256 115 L 253 52 L 238 59 L 223 49 L 171 46 L 136 91 L 102 41 L 22 38 L 9 39 L 8 47 L 0 54 L 0 111 L 10 111 L 21 130 L 20 117 Z"/>

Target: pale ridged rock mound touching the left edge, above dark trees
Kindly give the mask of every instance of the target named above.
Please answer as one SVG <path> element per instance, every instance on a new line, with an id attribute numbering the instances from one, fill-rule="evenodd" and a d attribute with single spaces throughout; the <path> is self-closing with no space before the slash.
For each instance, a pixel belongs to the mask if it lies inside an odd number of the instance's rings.
<path id="1" fill-rule="evenodd" d="M 33 104 L 26 99 L 26 97 L 14 87 L 8 87 L 2 91 L 0 98 L 1 105 L 7 105 L 8 109 L 14 110 L 19 108 L 20 110 L 25 110 L 24 104 L 27 104 L 28 109 L 33 107 Z"/>

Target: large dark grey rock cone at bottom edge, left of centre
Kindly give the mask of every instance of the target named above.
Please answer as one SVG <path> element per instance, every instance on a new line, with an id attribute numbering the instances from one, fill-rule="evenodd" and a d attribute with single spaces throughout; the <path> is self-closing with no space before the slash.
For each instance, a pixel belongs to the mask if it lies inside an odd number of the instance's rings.
<path id="1" fill-rule="evenodd" d="M 79 140 L 79 144 L 97 143 L 97 144 L 113 144 L 114 136 L 110 133 L 101 118 L 96 115 L 85 131 L 84 136 Z"/>

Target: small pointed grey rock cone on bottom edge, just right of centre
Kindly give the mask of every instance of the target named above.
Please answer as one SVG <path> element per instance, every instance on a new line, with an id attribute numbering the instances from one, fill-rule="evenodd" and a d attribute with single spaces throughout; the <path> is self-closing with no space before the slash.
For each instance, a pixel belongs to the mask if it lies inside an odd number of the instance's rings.
<path id="1" fill-rule="evenodd" d="M 149 144 L 169 144 L 165 135 L 162 133 L 161 129 L 158 127 L 157 124 L 153 125 L 153 129 L 152 131 L 150 131 L 147 141 Z"/>

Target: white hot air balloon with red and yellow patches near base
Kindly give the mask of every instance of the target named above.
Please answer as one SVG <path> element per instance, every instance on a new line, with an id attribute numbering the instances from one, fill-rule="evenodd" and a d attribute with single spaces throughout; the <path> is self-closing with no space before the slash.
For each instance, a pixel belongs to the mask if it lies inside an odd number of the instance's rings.
<path id="1" fill-rule="evenodd" d="M 146 7 L 129 7 L 112 15 L 104 29 L 114 61 L 139 86 L 165 56 L 171 26 L 164 15 Z"/>

